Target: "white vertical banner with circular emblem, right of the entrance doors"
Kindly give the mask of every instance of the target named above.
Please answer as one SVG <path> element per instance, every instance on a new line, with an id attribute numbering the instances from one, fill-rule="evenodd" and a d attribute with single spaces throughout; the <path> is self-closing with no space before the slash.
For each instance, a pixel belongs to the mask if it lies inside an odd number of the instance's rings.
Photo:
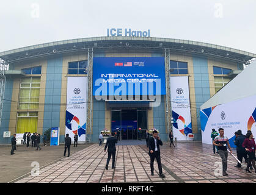
<path id="1" fill-rule="evenodd" d="M 191 112 L 189 100 L 188 76 L 170 77 L 170 101 L 172 118 L 174 118 L 173 132 L 177 141 L 191 141 L 192 134 Z"/>

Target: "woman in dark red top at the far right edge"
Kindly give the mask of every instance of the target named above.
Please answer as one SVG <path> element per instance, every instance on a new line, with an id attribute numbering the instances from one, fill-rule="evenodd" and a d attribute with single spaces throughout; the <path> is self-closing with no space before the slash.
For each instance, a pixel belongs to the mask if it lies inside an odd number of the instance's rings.
<path id="1" fill-rule="evenodd" d="M 255 166 L 255 147 L 256 147 L 256 145 L 255 145 L 255 141 L 254 141 L 254 135 L 252 135 L 251 131 L 248 131 L 246 133 L 246 139 L 244 140 L 244 143 L 242 144 L 242 146 L 245 147 L 246 152 L 249 156 L 246 172 L 251 172 L 251 171 L 249 171 L 250 163 L 254 167 L 254 170 L 256 172 L 256 166 Z"/>

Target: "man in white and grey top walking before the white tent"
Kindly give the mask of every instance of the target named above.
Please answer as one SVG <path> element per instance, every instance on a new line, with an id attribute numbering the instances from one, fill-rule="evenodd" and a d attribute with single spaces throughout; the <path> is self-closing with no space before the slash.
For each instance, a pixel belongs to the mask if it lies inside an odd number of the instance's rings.
<path id="1" fill-rule="evenodd" d="M 227 146 L 229 147 L 230 153 L 232 154 L 231 147 L 229 145 L 229 138 L 224 136 L 224 129 L 219 128 L 219 135 L 213 140 L 213 145 L 218 147 L 219 155 L 222 159 L 222 175 L 228 176 L 227 174 Z"/>

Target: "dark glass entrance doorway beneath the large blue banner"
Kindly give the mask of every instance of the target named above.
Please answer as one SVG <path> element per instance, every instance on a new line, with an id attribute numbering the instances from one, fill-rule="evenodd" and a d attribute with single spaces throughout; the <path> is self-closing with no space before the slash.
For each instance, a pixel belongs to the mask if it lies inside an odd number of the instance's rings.
<path id="1" fill-rule="evenodd" d="M 111 130 L 120 130 L 122 140 L 137 140 L 138 128 L 142 130 L 142 138 L 145 138 L 147 130 L 147 110 L 120 109 L 111 112 Z"/>

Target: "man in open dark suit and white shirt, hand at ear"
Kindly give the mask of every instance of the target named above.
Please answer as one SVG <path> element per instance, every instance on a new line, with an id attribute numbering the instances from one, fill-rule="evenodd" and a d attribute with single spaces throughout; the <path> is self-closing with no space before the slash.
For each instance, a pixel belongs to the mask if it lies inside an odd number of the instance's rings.
<path id="1" fill-rule="evenodd" d="M 158 137 L 158 132 L 156 130 L 153 131 L 153 137 L 148 140 L 148 154 L 150 156 L 150 168 L 151 168 L 151 175 L 154 175 L 154 160 L 158 162 L 158 170 L 159 170 L 159 177 L 166 177 L 162 171 L 162 164 L 160 158 L 160 146 L 163 146 L 163 142 Z"/>

